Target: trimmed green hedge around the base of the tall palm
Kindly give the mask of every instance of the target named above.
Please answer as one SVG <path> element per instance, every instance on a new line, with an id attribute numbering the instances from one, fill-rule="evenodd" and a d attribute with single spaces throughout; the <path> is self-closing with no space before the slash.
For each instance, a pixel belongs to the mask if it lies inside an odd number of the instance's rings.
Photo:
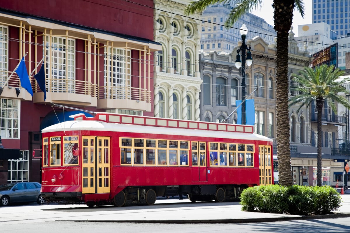
<path id="1" fill-rule="evenodd" d="M 329 214 L 339 209 L 341 196 L 330 186 L 254 186 L 240 196 L 243 211 L 297 215 Z"/>

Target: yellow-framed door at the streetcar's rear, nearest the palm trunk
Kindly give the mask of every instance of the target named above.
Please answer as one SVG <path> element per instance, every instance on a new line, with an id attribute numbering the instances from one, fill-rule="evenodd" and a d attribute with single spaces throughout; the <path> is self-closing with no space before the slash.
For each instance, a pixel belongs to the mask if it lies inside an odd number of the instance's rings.
<path id="1" fill-rule="evenodd" d="M 259 145 L 260 185 L 272 184 L 271 146 Z"/>

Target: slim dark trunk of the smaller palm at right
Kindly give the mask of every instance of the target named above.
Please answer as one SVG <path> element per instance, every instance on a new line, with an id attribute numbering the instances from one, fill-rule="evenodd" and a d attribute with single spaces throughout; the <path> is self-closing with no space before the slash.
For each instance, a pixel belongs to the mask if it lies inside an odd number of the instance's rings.
<path id="1" fill-rule="evenodd" d="M 317 186 L 322 186 L 322 108 L 323 100 L 316 100 L 317 108 Z"/>

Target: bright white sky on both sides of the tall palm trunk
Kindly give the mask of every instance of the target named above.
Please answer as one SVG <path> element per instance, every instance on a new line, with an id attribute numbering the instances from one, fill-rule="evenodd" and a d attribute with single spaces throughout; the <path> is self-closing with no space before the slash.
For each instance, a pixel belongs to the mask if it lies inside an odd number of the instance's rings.
<path id="1" fill-rule="evenodd" d="M 264 19 L 268 24 L 274 25 L 273 8 L 271 7 L 273 0 L 264 0 L 261 9 L 253 10 L 251 13 Z M 294 9 L 293 16 L 293 32 L 298 35 L 298 25 L 312 23 L 312 1 L 303 0 L 304 2 L 304 18 Z M 249 30 L 249 29 L 248 29 Z"/>

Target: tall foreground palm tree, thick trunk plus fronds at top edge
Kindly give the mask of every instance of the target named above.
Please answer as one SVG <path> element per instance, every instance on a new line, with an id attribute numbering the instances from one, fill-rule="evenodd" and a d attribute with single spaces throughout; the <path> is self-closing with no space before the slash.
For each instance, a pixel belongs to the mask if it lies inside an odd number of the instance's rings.
<path id="1" fill-rule="evenodd" d="M 232 8 L 228 19 L 225 21 L 227 27 L 231 27 L 244 13 L 251 12 L 260 7 L 263 0 L 197 0 L 192 1 L 185 9 L 189 15 L 197 10 L 204 10 L 207 6 L 216 3 L 236 3 Z M 289 113 L 288 113 L 288 35 L 292 27 L 293 10 L 296 8 L 301 16 L 304 16 L 304 5 L 302 0 L 273 0 L 274 29 L 277 32 L 276 46 L 276 118 L 277 118 L 277 152 L 279 183 L 281 185 L 292 185 L 292 169 L 290 166 L 289 148 Z"/>

